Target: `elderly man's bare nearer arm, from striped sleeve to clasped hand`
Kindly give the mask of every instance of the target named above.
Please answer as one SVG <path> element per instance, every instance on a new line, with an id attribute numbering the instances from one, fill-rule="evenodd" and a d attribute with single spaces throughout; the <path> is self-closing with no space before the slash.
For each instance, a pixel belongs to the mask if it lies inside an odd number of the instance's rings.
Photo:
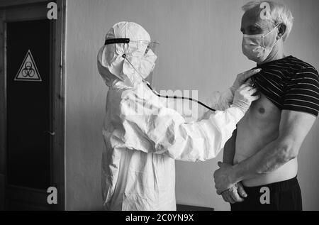
<path id="1" fill-rule="evenodd" d="M 237 182 L 273 172 L 296 158 L 315 119 L 315 116 L 303 112 L 282 111 L 279 137 L 275 141 L 237 165 L 219 164 L 221 168 L 214 174 L 218 194 Z"/>

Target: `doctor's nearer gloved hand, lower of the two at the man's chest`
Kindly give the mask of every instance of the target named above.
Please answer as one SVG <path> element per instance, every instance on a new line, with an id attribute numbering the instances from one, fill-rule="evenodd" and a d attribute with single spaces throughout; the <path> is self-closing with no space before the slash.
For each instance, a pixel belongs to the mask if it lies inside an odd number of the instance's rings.
<path id="1" fill-rule="evenodd" d="M 259 95 L 254 95 L 257 92 L 257 88 L 251 87 L 250 83 L 245 83 L 235 91 L 233 100 L 233 107 L 241 109 L 244 113 L 250 109 L 252 101 L 259 99 Z"/>

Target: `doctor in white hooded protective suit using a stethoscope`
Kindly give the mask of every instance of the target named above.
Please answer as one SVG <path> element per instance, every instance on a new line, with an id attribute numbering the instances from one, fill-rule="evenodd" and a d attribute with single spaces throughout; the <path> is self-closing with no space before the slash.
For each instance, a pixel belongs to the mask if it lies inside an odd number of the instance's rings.
<path id="1" fill-rule="evenodd" d="M 245 81 L 259 70 L 245 72 L 226 92 L 213 94 L 209 106 L 217 111 L 186 123 L 144 80 L 157 59 L 151 44 L 142 26 L 121 22 L 108 31 L 99 50 L 99 73 L 109 87 L 102 160 L 108 210 L 176 210 L 175 160 L 215 158 L 258 99 Z"/>

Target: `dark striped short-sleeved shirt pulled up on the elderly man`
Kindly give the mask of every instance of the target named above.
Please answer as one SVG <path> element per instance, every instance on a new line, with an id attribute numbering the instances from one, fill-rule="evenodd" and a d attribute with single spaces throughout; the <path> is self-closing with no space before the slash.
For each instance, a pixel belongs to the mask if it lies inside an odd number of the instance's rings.
<path id="1" fill-rule="evenodd" d="M 319 76 L 312 65 L 289 56 L 257 68 L 262 71 L 252 81 L 279 109 L 318 116 Z"/>

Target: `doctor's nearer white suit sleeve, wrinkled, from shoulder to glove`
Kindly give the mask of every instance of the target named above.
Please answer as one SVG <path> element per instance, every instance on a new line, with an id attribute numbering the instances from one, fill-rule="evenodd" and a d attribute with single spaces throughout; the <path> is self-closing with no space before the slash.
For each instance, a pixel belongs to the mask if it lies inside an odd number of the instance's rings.
<path id="1" fill-rule="evenodd" d="M 177 111 L 155 100 L 145 102 L 135 94 L 122 99 L 120 115 L 126 148 L 166 154 L 176 160 L 209 160 L 223 149 L 244 116 L 240 109 L 230 107 L 216 111 L 208 119 L 186 124 Z"/>

